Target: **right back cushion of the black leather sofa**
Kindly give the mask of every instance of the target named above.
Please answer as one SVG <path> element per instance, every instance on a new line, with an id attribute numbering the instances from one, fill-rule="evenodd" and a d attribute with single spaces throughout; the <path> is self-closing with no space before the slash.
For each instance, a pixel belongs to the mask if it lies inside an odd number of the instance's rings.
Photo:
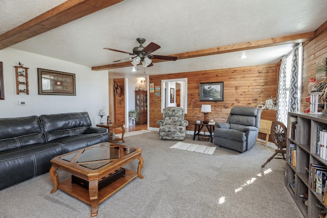
<path id="1" fill-rule="evenodd" d="M 46 141 L 84 134 L 91 120 L 87 112 L 40 115 Z"/>

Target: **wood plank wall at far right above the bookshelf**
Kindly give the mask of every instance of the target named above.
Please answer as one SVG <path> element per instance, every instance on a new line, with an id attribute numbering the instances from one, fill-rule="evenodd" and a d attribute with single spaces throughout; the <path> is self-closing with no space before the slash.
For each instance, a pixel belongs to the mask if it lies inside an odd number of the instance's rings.
<path id="1" fill-rule="evenodd" d="M 308 85 L 311 77 L 316 77 L 316 64 L 323 58 L 327 58 L 327 21 L 319 27 L 316 37 L 307 43 L 303 43 L 303 71 L 301 87 L 301 106 L 300 111 L 305 110 L 310 105 L 305 102 L 308 93 Z M 321 29 L 323 28 L 323 29 Z"/>

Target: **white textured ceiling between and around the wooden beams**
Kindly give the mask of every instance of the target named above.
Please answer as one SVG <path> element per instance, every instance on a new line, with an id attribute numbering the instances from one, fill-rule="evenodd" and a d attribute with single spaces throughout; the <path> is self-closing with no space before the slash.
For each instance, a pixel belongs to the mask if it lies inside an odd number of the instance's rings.
<path id="1" fill-rule="evenodd" d="M 1 0 L 0 34 L 63 3 L 63 0 Z M 155 42 L 155 55 L 172 55 L 315 31 L 327 20 L 325 0 L 124 0 L 13 49 L 92 66 L 113 64 L 132 52 L 136 38 Z M 111 78 L 277 63 L 292 45 L 154 63 L 138 71 L 110 69 Z M 246 59 L 240 56 L 245 54 Z M 28 63 L 25 63 L 28 65 Z M 96 73 L 96 71 L 95 71 Z"/>

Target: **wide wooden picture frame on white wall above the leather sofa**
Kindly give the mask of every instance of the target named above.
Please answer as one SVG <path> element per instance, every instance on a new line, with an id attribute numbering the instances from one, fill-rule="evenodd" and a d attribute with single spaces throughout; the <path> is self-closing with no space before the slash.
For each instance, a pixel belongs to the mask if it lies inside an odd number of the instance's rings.
<path id="1" fill-rule="evenodd" d="M 39 94 L 76 95 L 75 74 L 37 68 Z"/>

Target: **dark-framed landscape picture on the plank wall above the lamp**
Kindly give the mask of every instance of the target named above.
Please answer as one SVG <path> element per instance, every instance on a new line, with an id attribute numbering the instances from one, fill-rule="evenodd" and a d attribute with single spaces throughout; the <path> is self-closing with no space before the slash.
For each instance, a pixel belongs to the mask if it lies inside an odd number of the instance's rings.
<path id="1" fill-rule="evenodd" d="M 200 83 L 201 101 L 224 101 L 224 82 Z"/>

